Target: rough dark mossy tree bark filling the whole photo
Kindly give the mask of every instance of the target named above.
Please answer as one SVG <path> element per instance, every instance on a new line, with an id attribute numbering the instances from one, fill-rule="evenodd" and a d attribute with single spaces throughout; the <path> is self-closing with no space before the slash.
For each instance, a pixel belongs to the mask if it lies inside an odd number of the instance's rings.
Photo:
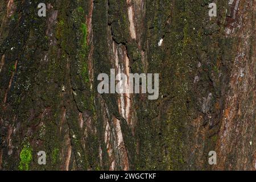
<path id="1" fill-rule="evenodd" d="M 256 170 L 255 12 L 255 0 L 2 0 L 0 169 Z M 159 73 L 158 100 L 99 94 L 112 68 Z"/>

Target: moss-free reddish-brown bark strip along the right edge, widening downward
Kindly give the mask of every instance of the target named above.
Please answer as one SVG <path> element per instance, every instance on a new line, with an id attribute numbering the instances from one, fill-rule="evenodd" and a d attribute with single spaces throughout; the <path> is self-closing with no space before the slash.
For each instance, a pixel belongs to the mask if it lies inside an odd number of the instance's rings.
<path id="1" fill-rule="evenodd" d="M 225 110 L 222 114 L 220 139 L 217 143 L 219 163 L 217 169 L 247 169 L 255 166 L 254 151 L 250 148 L 255 142 L 256 121 L 253 118 L 256 108 L 255 47 L 251 40 L 255 39 L 255 24 L 249 13 L 255 10 L 255 1 L 235 1 L 237 9 L 234 24 L 239 25 L 229 32 L 228 36 L 238 39 L 234 49 L 233 69 L 229 82 L 229 93 L 225 100 Z M 255 11 L 254 11 L 255 12 Z M 236 156 L 233 162 L 230 157 Z"/>

